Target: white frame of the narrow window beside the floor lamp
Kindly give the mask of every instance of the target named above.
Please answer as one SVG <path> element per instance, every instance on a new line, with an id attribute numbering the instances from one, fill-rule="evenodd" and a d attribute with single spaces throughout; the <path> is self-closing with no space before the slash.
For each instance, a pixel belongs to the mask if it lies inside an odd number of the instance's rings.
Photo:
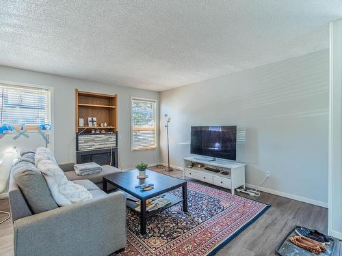
<path id="1" fill-rule="evenodd" d="M 155 102 L 155 109 L 154 109 L 154 119 L 155 119 L 155 127 L 154 128 L 135 128 L 135 130 L 133 130 L 133 109 L 132 109 L 132 102 L 133 100 L 142 100 L 142 101 L 149 101 L 149 102 Z M 129 122 L 131 122 L 131 151 L 140 151 L 140 150 L 155 150 L 158 148 L 158 137 L 157 137 L 157 129 L 158 129 L 158 125 L 157 125 L 157 117 L 158 117 L 158 100 L 157 99 L 152 99 L 152 98 L 141 98 L 141 97 L 134 97 L 131 96 L 131 101 L 130 103 L 130 109 L 131 109 L 131 119 L 129 120 Z M 144 148 L 134 148 L 133 147 L 133 132 L 134 131 L 148 131 L 148 130 L 154 130 L 155 131 L 155 145 L 153 147 L 144 147 Z"/>

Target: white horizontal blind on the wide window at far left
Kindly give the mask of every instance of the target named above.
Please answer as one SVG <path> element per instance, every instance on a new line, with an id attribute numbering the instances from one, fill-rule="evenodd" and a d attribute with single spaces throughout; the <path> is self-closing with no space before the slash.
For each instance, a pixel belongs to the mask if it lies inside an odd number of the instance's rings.
<path id="1" fill-rule="evenodd" d="M 0 124 L 50 124 L 49 89 L 0 84 Z"/>

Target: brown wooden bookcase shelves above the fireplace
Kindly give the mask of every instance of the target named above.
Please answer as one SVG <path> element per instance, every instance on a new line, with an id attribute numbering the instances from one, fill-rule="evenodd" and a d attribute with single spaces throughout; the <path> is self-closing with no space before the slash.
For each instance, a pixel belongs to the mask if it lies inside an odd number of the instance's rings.
<path id="1" fill-rule="evenodd" d="M 90 133 L 92 129 L 116 132 L 118 130 L 118 99 L 116 95 L 95 94 L 76 89 L 76 132 Z M 88 117 L 96 117 L 98 127 L 88 126 Z M 79 118 L 84 126 L 79 126 Z M 101 127 L 107 123 L 107 127 Z"/>

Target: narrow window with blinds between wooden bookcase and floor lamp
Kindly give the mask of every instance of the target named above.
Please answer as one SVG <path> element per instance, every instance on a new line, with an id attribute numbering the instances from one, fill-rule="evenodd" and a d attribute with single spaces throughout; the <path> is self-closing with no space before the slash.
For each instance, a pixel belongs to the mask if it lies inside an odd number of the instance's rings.
<path id="1" fill-rule="evenodd" d="M 155 105 L 155 100 L 131 99 L 132 150 L 157 147 Z"/>

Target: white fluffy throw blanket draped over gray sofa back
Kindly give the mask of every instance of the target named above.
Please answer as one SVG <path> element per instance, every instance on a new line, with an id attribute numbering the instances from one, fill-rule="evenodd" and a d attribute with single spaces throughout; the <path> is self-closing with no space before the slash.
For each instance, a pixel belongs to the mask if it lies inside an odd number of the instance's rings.
<path id="1" fill-rule="evenodd" d="M 70 182 L 66 178 L 62 169 L 55 163 L 55 158 L 49 150 L 38 147 L 35 162 L 37 168 L 44 175 L 57 205 L 70 205 L 92 199 L 92 194 L 85 187 Z"/>

